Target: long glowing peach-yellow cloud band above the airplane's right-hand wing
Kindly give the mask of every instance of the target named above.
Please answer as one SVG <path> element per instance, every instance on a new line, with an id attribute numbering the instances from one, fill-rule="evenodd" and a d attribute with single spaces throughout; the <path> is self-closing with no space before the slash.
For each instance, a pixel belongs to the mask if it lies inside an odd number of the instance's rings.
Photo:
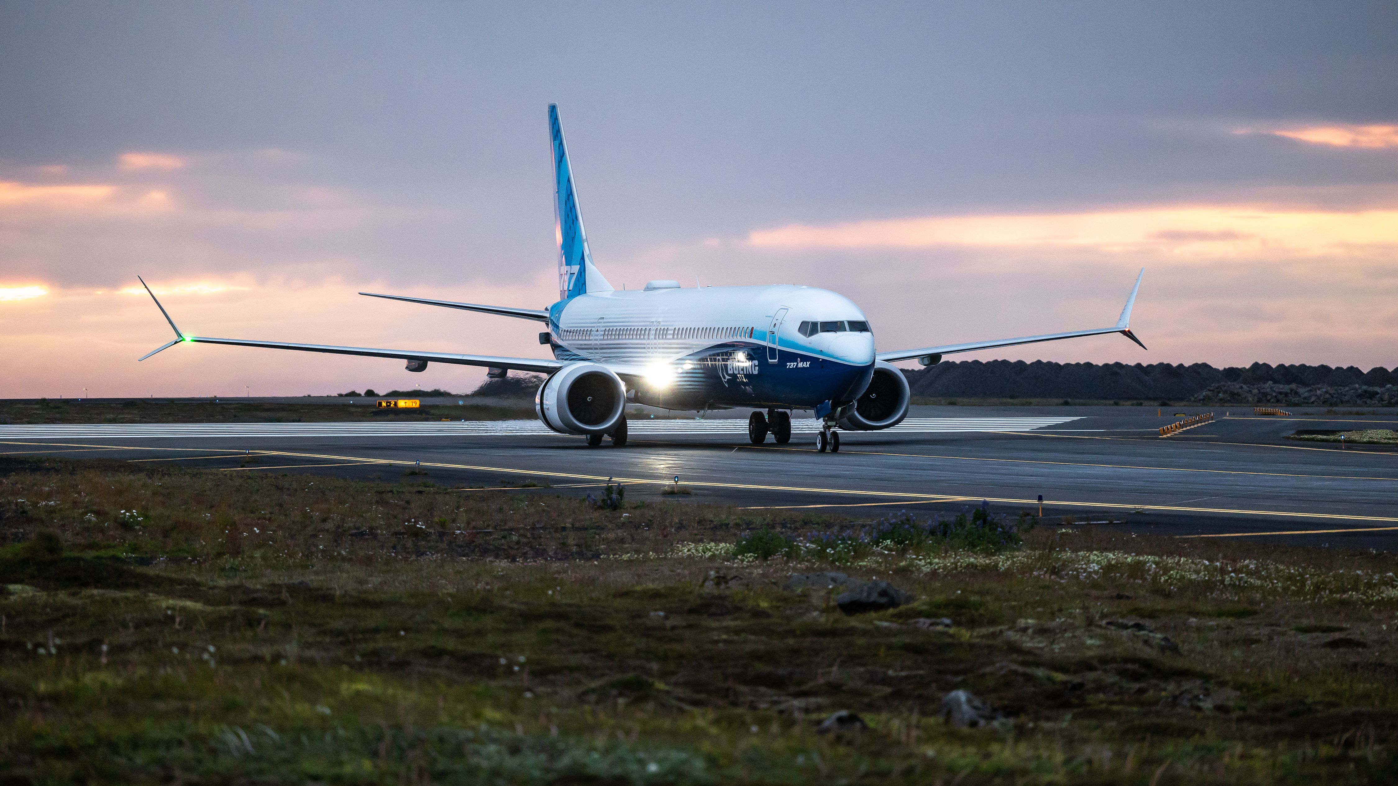
<path id="1" fill-rule="evenodd" d="M 930 215 L 832 225 L 791 224 L 754 231 L 747 242 L 768 249 L 1000 246 L 1153 250 L 1211 259 L 1260 253 L 1310 256 L 1345 246 L 1398 245 L 1398 210 L 1163 206 L 1030 215 Z"/>

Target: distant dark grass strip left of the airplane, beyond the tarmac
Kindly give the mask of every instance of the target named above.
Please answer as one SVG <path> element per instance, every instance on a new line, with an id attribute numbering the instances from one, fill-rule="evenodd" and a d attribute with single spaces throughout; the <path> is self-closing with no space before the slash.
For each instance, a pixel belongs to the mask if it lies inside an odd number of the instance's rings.
<path id="1" fill-rule="evenodd" d="M 466 400 L 466 399 L 463 399 Z M 75 401 L 71 399 L 0 400 L 0 424 L 123 424 L 123 422 L 345 422 L 531 420 L 534 408 L 482 404 L 377 408 L 373 399 L 361 404 L 292 404 L 280 401 Z"/>

